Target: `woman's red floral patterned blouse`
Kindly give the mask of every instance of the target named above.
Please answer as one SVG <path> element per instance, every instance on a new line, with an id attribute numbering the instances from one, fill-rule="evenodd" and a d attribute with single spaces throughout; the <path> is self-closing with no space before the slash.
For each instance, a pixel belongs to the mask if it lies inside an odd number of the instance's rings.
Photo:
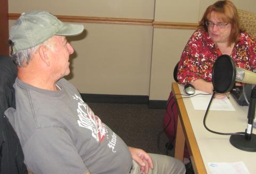
<path id="1" fill-rule="evenodd" d="M 212 68 L 221 55 L 217 44 L 213 43 L 208 32 L 198 29 L 188 40 L 179 62 L 178 80 L 188 84 L 197 79 L 212 81 Z M 256 40 L 246 32 L 239 34 L 231 57 L 236 67 L 256 70 Z"/>

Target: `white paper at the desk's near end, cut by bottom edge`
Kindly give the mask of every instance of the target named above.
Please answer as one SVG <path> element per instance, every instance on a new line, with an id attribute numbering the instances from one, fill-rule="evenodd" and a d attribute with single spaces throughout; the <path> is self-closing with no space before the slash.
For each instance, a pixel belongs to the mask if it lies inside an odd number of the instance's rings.
<path id="1" fill-rule="evenodd" d="M 208 166 L 213 174 L 250 174 L 243 161 L 239 162 L 209 162 Z"/>

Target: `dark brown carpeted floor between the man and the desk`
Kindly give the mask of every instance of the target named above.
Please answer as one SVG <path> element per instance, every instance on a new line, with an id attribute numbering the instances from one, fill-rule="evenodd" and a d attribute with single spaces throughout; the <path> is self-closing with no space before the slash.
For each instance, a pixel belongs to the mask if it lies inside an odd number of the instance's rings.
<path id="1" fill-rule="evenodd" d="M 128 146 L 142 148 L 148 153 L 166 154 L 165 143 L 168 139 L 164 132 L 158 141 L 158 134 L 163 130 L 165 110 L 148 109 L 146 104 L 87 104 Z"/>

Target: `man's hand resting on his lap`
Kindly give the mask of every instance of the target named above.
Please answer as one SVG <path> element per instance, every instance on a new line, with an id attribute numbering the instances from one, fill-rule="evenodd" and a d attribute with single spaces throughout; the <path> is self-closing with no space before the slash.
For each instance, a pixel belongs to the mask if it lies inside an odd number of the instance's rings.
<path id="1" fill-rule="evenodd" d="M 139 149 L 139 148 L 134 148 L 134 147 L 128 147 L 129 151 L 131 152 L 132 159 L 137 162 L 140 165 L 140 172 L 145 174 L 148 174 L 148 170 L 153 169 L 153 162 L 148 153 L 145 151 Z"/>

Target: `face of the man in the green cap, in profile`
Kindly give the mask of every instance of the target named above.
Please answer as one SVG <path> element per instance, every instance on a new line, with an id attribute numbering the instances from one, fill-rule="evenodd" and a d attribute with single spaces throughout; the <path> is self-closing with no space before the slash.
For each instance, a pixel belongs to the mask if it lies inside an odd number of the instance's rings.
<path id="1" fill-rule="evenodd" d="M 69 55 L 74 53 L 73 47 L 67 42 L 65 36 L 53 36 L 50 42 L 52 72 L 61 78 L 70 73 Z"/>

